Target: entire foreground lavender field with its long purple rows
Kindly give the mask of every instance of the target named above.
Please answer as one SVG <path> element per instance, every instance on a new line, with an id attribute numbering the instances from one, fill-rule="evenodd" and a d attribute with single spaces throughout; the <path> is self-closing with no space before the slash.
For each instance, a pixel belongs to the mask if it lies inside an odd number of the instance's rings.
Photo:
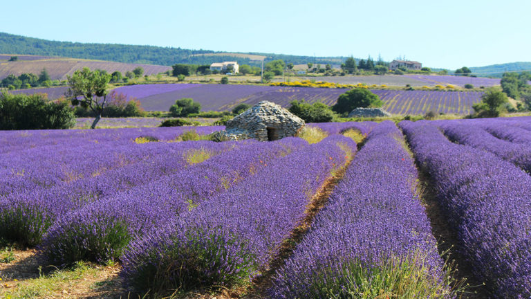
<path id="1" fill-rule="evenodd" d="M 0 239 L 59 268 L 112 261 L 141 296 L 233 298 L 455 298 L 439 248 L 451 242 L 463 275 L 485 283 L 472 298 L 531 296 L 531 117 L 308 126 L 326 138 L 0 132 Z"/>

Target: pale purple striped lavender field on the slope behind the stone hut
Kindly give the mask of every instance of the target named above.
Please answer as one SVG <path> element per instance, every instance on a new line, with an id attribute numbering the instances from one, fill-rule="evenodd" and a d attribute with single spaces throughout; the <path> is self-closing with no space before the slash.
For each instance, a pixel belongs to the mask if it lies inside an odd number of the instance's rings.
<path id="1" fill-rule="evenodd" d="M 48 93 L 51 100 L 64 95 L 66 87 L 22 89 L 14 93 Z M 226 111 L 240 103 L 255 105 L 262 100 L 289 107 L 293 100 L 324 102 L 334 105 L 348 89 L 269 87 L 237 84 L 140 84 L 114 89 L 140 100 L 147 111 L 168 111 L 180 98 L 192 98 L 201 103 L 202 111 Z M 438 111 L 445 114 L 470 114 L 472 105 L 481 101 L 480 91 L 404 91 L 373 90 L 384 101 L 383 108 L 391 114 L 425 114 Z"/>

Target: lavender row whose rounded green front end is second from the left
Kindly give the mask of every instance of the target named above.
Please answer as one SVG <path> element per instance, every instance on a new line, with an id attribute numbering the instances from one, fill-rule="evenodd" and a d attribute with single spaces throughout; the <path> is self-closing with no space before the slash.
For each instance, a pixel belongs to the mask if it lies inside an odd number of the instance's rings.
<path id="1" fill-rule="evenodd" d="M 41 251 L 53 264 L 117 260 L 133 236 L 145 235 L 194 209 L 269 161 L 307 146 L 299 138 L 275 143 L 245 141 L 236 149 L 115 196 L 104 197 L 62 217 L 50 228 Z M 76 244 L 76 245 L 74 245 Z"/>

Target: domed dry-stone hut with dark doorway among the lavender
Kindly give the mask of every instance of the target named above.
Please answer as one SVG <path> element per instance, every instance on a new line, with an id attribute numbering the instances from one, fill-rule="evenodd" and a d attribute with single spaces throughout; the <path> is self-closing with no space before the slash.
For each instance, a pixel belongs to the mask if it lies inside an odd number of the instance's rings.
<path id="1" fill-rule="evenodd" d="M 254 138 L 275 141 L 296 136 L 304 127 L 304 120 L 273 102 L 261 101 L 252 108 L 227 121 L 226 138 L 239 140 Z"/>

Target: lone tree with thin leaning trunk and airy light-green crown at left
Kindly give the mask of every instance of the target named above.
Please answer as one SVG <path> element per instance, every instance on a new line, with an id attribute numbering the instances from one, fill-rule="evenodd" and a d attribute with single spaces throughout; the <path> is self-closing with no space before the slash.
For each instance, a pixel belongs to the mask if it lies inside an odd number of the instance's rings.
<path id="1" fill-rule="evenodd" d="M 102 118 L 102 111 L 107 100 L 107 84 L 111 80 L 111 75 L 106 71 L 91 71 L 87 67 L 77 70 L 72 77 L 68 78 L 68 91 L 66 97 L 70 98 L 73 106 L 81 105 L 90 108 L 96 118 L 91 125 L 95 129 L 96 124 Z"/>

